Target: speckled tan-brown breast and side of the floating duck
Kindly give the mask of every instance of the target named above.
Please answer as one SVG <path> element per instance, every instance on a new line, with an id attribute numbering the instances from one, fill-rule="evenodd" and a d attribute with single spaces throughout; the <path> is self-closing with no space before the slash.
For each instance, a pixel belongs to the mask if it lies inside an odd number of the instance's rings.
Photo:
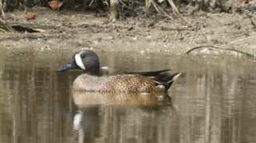
<path id="1" fill-rule="evenodd" d="M 79 75 L 73 83 L 73 90 L 95 92 L 155 93 L 159 89 L 153 79 L 141 75 L 92 76 Z"/>

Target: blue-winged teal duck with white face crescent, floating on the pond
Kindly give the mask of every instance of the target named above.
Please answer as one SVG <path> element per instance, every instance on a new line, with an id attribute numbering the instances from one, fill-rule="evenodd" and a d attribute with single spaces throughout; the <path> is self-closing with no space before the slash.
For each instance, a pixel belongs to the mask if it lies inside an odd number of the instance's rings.
<path id="1" fill-rule="evenodd" d="M 170 70 L 155 72 L 127 72 L 120 75 L 100 75 L 100 61 L 95 52 L 83 50 L 76 52 L 68 64 L 62 65 L 57 72 L 69 69 L 81 69 L 85 74 L 79 75 L 73 83 L 73 90 L 153 94 L 165 93 L 171 84 L 181 75 L 171 74 Z"/>

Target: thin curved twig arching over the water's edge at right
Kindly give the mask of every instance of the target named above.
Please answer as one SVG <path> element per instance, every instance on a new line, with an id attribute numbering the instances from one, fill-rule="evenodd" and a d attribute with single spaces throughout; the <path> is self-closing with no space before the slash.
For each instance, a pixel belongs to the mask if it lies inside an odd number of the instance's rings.
<path id="1" fill-rule="evenodd" d="M 231 51 L 231 52 L 238 52 L 240 54 L 243 54 L 243 55 L 246 55 L 248 57 L 254 57 L 253 54 L 250 54 L 248 52 L 242 52 L 240 50 L 237 50 L 237 49 L 233 49 L 233 48 L 221 48 L 221 47 L 217 47 L 217 46 L 214 46 L 214 45 L 203 45 L 203 46 L 197 46 L 197 47 L 194 47 L 194 48 L 191 48 L 189 50 L 187 50 L 186 54 L 189 54 L 191 53 L 192 51 L 196 50 L 196 49 L 199 49 L 199 48 L 215 48 L 215 49 L 221 49 L 221 50 L 226 50 L 226 51 Z"/>

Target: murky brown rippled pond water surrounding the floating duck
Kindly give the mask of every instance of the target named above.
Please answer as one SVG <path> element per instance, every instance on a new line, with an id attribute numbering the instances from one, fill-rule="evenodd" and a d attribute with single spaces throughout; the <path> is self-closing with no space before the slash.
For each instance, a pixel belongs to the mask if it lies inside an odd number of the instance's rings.
<path id="1" fill-rule="evenodd" d="M 0 49 L 1 143 L 256 142 L 254 60 L 100 52 L 111 72 L 185 74 L 169 91 L 171 104 L 78 110 L 70 87 L 80 72 L 55 72 L 72 53 Z"/>

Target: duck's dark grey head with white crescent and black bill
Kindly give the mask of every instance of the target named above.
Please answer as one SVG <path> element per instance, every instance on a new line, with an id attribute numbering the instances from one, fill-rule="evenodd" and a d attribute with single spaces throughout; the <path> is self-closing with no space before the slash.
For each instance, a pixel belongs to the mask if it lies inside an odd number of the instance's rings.
<path id="1" fill-rule="evenodd" d="M 69 69 L 81 69 L 90 75 L 98 75 L 100 72 L 99 57 L 90 50 L 76 52 L 69 63 L 62 65 L 57 72 L 65 72 Z"/>

